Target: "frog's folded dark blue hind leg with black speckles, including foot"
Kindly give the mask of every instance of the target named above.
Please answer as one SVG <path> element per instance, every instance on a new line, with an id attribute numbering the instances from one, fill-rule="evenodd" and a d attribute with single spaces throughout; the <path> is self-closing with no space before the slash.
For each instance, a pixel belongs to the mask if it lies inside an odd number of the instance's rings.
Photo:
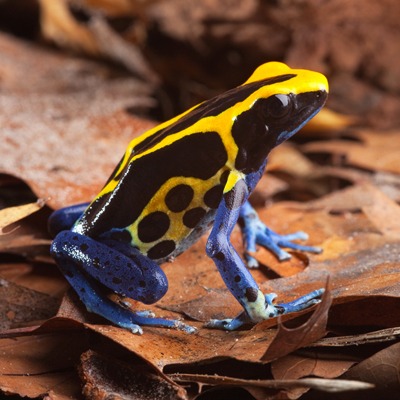
<path id="1" fill-rule="evenodd" d="M 126 250 L 121 251 L 123 248 Z M 89 311 L 134 333 L 141 333 L 143 325 L 194 331 L 177 320 L 132 312 L 106 296 L 104 286 L 121 296 L 151 304 L 166 293 L 168 282 L 164 272 L 133 247 L 110 239 L 101 243 L 73 231 L 62 231 L 55 237 L 51 253 Z"/>

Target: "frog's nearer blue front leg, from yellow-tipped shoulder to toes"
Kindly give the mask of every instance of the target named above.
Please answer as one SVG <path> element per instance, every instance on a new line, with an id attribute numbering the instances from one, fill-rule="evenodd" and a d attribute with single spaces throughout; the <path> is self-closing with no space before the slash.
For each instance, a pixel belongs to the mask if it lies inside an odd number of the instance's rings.
<path id="1" fill-rule="evenodd" d="M 242 305 L 244 312 L 234 319 L 211 320 L 207 326 L 233 330 L 245 323 L 254 324 L 319 303 L 323 289 L 311 292 L 294 302 L 277 305 L 273 304 L 275 294 L 264 295 L 261 292 L 230 243 L 232 229 L 249 195 L 249 188 L 244 179 L 238 177 L 232 180 L 236 180 L 236 183 L 224 193 L 218 207 L 214 226 L 207 241 L 207 254 L 214 260 L 226 286 Z"/>

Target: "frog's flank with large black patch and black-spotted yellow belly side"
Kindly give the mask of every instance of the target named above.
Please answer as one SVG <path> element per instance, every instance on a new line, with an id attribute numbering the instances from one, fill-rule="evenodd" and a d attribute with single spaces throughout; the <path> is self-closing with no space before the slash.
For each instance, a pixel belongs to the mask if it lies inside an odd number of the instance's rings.
<path id="1" fill-rule="evenodd" d="M 227 153 L 216 132 L 148 147 L 117 168 L 74 229 L 92 237 L 121 230 L 143 254 L 163 260 L 212 223 L 228 175 Z"/>

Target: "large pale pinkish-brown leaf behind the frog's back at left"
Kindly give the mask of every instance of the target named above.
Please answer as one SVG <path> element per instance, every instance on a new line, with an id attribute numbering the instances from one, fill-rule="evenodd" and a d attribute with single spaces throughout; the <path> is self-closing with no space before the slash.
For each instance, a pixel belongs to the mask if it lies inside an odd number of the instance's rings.
<path id="1" fill-rule="evenodd" d="M 149 105 L 148 89 L 4 34 L 0 53 L 0 172 L 26 181 L 51 207 L 90 201 L 129 141 L 153 125 L 124 111 Z"/>

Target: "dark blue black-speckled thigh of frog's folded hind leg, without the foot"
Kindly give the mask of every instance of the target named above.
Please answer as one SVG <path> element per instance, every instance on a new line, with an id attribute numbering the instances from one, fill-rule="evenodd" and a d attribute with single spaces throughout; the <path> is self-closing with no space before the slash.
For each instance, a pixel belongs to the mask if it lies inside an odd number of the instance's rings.
<path id="1" fill-rule="evenodd" d="M 127 256 L 109 244 L 63 231 L 54 239 L 51 252 L 61 270 L 69 266 L 69 271 L 63 272 L 73 286 L 71 262 L 114 292 L 145 304 L 156 302 L 168 289 L 167 278 L 158 264 L 132 248 Z M 78 286 L 81 285 L 80 282 Z"/>

